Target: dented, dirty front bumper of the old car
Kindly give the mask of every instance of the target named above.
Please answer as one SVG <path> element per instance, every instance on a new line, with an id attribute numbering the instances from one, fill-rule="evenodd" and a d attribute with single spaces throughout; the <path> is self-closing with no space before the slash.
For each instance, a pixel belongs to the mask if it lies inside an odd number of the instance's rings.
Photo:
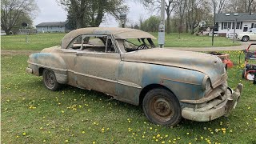
<path id="1" fill-rule="evenodd" d="M 239 83 L 234 91 L 229 88 L 227 90 L 226 100 L 210 110 L 196 111 L 191 108 L 184 108 L 182 110 L 182 117 L 197 122 L 208 122 L 222 117 L 223 115 L 228 115 L 238 104 L 238 100 L 242 94 L 242 87 L 242 84 Z"/>

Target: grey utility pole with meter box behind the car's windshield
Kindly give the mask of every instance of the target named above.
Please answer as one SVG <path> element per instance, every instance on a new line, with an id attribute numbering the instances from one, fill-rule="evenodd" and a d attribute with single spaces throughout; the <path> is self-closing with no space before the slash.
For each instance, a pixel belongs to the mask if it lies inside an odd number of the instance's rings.
<path id="1" fill-rule="evenodd" d="M 165 0 L 161 0 L 161 22 L 158 29 L 158 45 L 163 48 L 165 44 Z"/>

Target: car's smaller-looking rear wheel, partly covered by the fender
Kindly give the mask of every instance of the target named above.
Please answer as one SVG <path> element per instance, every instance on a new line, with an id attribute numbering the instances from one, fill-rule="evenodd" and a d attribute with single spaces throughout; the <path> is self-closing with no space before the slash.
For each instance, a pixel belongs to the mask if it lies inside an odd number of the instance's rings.
<path id="1" fill-rule="evenodd" d="M 61 84 L 57 82 L 54 71 L 52 70 L 43 70 L 42 78 L 48 90 L 56 91 L 61 87 Z"/>

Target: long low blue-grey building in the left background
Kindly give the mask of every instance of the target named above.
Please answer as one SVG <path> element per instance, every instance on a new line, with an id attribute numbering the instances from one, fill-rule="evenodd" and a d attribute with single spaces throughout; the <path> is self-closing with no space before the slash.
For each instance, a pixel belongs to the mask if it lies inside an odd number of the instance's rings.
<path id="1" fill-rule="evenodd" d="M 38 33 L 47 33 L 47 32 L 66 32 L 66 23 L 67 22 L 42 22 L 37 26 Z"/>

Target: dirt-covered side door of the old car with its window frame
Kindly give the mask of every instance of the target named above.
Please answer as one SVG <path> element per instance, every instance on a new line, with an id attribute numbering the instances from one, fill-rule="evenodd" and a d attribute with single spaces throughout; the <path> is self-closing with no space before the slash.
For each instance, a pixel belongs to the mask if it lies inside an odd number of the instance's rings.
<path id="1" fill-rule="evenodd" d="M 88 40 L 88 37 L 89 41 L 83 42 L 74 61 L 77 86 L 115 96 L 120 54 L 110 44 L 110 36 L 84 36 L 83 39 Z"/>

